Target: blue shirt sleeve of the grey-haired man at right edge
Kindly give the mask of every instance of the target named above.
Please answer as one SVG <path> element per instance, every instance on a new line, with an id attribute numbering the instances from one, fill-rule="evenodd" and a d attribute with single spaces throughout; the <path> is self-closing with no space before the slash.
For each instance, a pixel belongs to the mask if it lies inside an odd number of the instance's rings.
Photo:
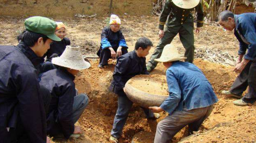
<path id="1" fill-rule="evenodd" d="M 242 33 L 245 39 L 250 43 L 248 51 L 244 55 L 245 59 L 253 60 L 256 55 L 256 29 L 253 23 L 241 22 Z"/>

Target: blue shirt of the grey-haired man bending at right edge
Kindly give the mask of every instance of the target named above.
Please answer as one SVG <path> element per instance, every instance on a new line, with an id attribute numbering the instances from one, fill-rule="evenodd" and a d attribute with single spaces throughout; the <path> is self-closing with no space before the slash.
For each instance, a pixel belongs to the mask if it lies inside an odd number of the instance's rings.
<path id="1" fill-rule="evenodd" d="M 245 54 L 245 59 L 253 60 L 256 56 L 256 14 L 243 13 L 235 15 L 236 28 L 234 34 L 239 41 L 238 54 Z"/>

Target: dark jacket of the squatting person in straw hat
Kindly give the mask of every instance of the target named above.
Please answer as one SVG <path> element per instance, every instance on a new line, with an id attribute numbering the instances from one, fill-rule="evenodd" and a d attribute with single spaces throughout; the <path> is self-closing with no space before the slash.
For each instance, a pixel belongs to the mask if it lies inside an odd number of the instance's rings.
<path id="1" fill-rule="evenodd" d="M 40 75 L 40 85 L 51 92 L 51 104 L 47 115 L 47 132 L 63 133 L 68 139 L 74 132 L 72 107 L 76 96 L 75 77 L 65 69 L 53 69 Z"/>

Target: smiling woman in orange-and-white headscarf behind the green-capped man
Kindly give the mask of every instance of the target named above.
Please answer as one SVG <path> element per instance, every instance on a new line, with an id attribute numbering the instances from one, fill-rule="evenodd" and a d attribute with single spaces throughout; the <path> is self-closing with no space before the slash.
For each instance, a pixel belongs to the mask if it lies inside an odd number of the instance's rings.
<path id="1" fill-rule="evenodd" d="M 63 22 L 56 22 L 57 28 L 55 34 L 61 39 L 61 41 L 54 41 L 50 45 L 50 49 L 44 54 L 42 60 L 46 61 L 41 64 L 40 73 L 47 72 L 51 69 L 56 69 L 57 66 L 51 63 L 53 57 L 60 57 L 67 45 L 70 45 L 70 40 L 66 38 L 66 26 Z"/>

